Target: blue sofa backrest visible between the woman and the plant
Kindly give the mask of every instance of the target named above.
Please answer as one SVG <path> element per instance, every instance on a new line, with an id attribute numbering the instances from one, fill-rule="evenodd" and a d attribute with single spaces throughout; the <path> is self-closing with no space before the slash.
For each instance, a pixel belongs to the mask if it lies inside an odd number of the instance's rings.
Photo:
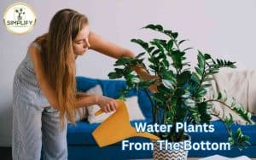
<path id="1" fill-rule="evenodd" d="M 113 99 L 118 99 L 120 92 L 125 89 L 126 84 L 124 80 L 109 80 L 109 79 L 96 79 L 89 77 L 76 77 L 77 90 L 79 92 L 86 92 L 87 90 L 95 87 L 97 84 L 101 85 L 104 96 Z M 137 95 L 138 103 L 146 118 L 152 118 L 152 106 L 146 92 L 143 89 L 133 89 L 126 97 Z"/>

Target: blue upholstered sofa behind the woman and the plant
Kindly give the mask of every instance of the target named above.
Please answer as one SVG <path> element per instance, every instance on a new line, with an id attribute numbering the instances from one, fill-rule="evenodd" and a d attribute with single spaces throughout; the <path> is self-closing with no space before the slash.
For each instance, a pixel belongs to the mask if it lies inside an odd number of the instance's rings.
<path id="1" fill-rule="evenodd" d="M 86 90 L 100 84 L 102 87 L 103 94 L 108 97 L 118 98 L 119 92 L 125 89 L 125 82 L 122 80 L 101 80 L 92 79 L 88 77 L 77 77 L 77 89 L 85 92 Z M 143 111 L 146 120 L 143 122 L 150 123 L 151 116 L 151 105 L 147 95 L 143 90 L 132 90 L 127 96 L 137 95 L 138 103 Z M 254 121 L 256 117 L 253 117 Z M 131 125 L 140 121 L 132 121 Z M 142 121 L 141 121 L 142 122 Z M 210 133 L 191 133 L 192 142 L 212 141 L 212 142 L 226 142 L 227 134 L 225 132 L 222 123 L 216 121 L 213 122 L 215 126 L 215 132 Z M 152 151 L 122 151 L 121 142 L 111 146 L 100 148 L 96 145 L 96 141 L 92 137 L 92 132 L 99 123 L 88 123 L 85 119 L 78 122 L 75 126 L 68 124 L 67 127 L 67 144 L 68 144 L 68 159 L 139 159 L 139 158 L 150 158 L 152 157 Z M 220 154 L 227 157 L 237 157 L 241 155 L 247 155 L 247 157 L 256 157 L 256 126 L 239 126 L 235 125 L 234 129 L 241 127 L 244 134 L 251 137 L 250 142 L 252 146 L 247 150 L 239 151 L 237 148 L 231 151 L 189 151 L 189 157 L 207 157 L 214 154 Z M 130 142 L 149 142 L 150 140 L 145 138 L 134 137 L 129 139 Z"/>

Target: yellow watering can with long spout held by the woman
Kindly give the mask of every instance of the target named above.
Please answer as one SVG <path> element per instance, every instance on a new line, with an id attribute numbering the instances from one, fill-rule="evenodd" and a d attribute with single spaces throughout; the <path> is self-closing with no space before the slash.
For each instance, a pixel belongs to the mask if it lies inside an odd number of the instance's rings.
<path id="1" fill-rule="evenodd" d="M 151 140 L 160 140 L 158 136 L 149 133 L 137 133 L 136 129 L 131 126 L 129 114 L 123 100 L 117 100 L 117 111 L 108 117 L 103 123 L 92 132 L 98 146 L 112 145 L 120 140 L 130 137 L 145 137 Z M 102 110 L 96 112 L 96 116 L 102 114 Z"/>

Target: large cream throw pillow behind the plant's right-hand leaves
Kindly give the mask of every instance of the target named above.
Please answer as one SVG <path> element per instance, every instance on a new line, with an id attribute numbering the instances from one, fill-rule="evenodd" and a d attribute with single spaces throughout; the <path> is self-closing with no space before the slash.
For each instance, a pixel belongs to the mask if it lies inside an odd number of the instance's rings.
<path id="1" fill-rule="evenodd" d="M 232 97 L 236 99 L 237 103 L 241 103 L 242 106 L 245 106 L 244 110 L 252 111 L 255 113 L 255 102 L 253 95 L 255 93 L 255 86 L 253 85 L 254 80 L 256 79 L 256 72 L 253 70 L 246 71 L 224 71 L 213 75 L 214 81 L 212 81 L 212 89 L 215 93 L 223 92 L 226 90 L 228 101 L 230 105 Z M 211 97 L 212 94 L 208 94 L 208 97 Z M 233 117 L 235 123 L 245 124 L 247 123 L 244 119 L 237 116 L 234 111 L 231 111 L 227 107 L 219 103 L 213 103 L 216 113 L 220 113 L 220 116 L 229 116 L 230 114 Z M 216 117 L 212 117 L 212 120 L 217 120 Z"/>

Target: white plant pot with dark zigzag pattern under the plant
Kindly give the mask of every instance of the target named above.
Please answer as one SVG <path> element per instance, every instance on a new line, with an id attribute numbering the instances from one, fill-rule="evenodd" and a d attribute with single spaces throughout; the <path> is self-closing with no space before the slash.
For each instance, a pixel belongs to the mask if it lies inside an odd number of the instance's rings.
<path id="1" fill-rule="evenodd" d="M 190 139 L 190 136 L 188 135 L 188 140 Z M 178 142 L 170 142 L 167 141 L 169 145 L 168 148 L 166 148 L 166 143 L 160 143 L 157 140 L 153 141 L 154 144 L 154 150 L 153 150 L 153 158 L 154 160 L 186 160 L 188 157 L 189 151 L 184 150 L 184 141 L 178 141 Z M 178 150 L 170 149 L 170 146 L 174 146 L 174 143 L 178 144 Z M 160 148 L 160 146 L 162 146 Z"/>

